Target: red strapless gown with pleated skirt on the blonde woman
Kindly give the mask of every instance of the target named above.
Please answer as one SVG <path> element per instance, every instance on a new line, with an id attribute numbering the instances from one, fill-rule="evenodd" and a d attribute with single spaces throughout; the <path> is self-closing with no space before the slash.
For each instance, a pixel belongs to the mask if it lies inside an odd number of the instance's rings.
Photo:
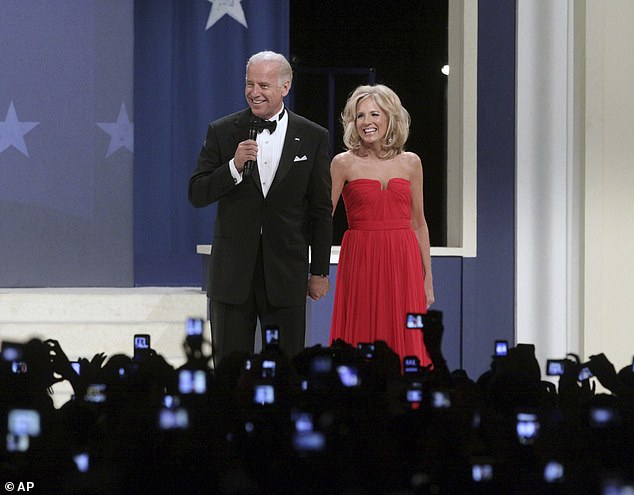
<path id="1" fill-rule="evenodd" d="M 405 327 L 407 313 L 425 313 L 423 266 L 411 224 L 410 183 L 375 179 L 343 188 L 348 217 L 339 255 L 330 341 L 384 340 L 401 356 L 431 364 L 420 330 Z"/>

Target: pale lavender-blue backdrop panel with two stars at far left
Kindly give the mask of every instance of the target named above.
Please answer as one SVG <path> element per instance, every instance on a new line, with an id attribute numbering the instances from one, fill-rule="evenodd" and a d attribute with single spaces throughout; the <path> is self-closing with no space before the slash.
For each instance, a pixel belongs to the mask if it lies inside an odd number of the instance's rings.
<path id="1" fill-rule="evenodd" d="M 134 283 L 132 12 L 0 0 L 0 287 Z"/>

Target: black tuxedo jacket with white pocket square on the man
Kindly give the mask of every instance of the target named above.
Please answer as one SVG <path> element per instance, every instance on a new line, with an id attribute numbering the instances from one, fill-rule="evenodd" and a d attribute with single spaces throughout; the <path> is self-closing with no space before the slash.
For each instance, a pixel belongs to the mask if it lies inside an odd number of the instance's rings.
<path id="1" fill-rule="evenodd" d="M 330 264 L 328 132 L 288 112 L 280 164 L 265 198 L 257 167 L 239 184 L 229 170 L 238 143 L 248 137 L 250 115 L 246 109 L 209 125 L 189 180 L 195 207 L 217 202 L 207 293 L 227 304 L 246 300 L 261 238 L 269 302 L 305 304 L 308 273 L 327 274 Z"/>

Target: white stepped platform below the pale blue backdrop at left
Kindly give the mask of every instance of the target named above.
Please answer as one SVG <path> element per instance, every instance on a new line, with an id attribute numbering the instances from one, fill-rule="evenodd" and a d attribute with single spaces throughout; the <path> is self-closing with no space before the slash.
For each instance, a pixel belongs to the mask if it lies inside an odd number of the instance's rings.
<path id="1" fill-rule="evenodd" d="M 131 356 L 134 335 L 147 333 L 152 348 L 178 367 L 189 317 L 207 320 L 199 287 L 0 289 L 0 339 L 55 339 L 71 360 L 101 352 Z M 54 392 L 59 405 L 70 387 L 62 383 Z"/>

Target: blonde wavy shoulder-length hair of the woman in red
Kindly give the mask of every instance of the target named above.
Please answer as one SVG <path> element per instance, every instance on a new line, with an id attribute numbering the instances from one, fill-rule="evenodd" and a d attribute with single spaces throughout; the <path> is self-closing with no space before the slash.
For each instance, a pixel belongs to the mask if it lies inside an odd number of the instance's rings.
<path id="1" fill-rule="evenodd" d="M 383 84 L 359 86 L 348 97 L 346 106 L 341 113 L 343 142 L 348 150 L 359 151 L 361 149 L 361 137 L 355 125 L 357 107 L 360 102 L 370 97 L 374 98 L 376 104 L 387 115 L 387 132 L 381 148 L 384 158 L 392 158 L 405 149 L 411 119 L 398 95 Z"/>

